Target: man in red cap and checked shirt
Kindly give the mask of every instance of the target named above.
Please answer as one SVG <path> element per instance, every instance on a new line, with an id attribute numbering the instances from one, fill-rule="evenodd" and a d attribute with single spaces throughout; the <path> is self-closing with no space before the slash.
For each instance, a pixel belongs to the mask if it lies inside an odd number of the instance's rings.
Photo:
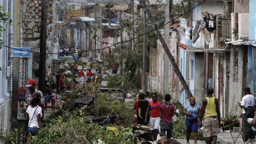
<path id="1" fill-rule="evenodd" d="M 26 94 L 26 100 L 25 102 L 28 103 L 27 106 L 30 105 L 34 94 L 40 94 L 41 95 L 41 100 L 40 100 L 40 106 L 43 107 L 45 103 L 45 98 L 43 95 L 43 92 L 41 92 L 38 89 L 35 89 L 35 80 L 34 79 L 28 79 L 27 84 L 25 87 L 28 87 L 29 91 Z"/>

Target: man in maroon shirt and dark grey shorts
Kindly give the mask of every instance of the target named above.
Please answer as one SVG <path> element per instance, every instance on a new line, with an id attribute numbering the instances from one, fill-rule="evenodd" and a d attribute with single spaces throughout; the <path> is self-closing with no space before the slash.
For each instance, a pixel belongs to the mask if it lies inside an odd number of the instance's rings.
<path id="1" fill-rule="evenodd" d="M 160 105 L 160 137 L 161 144 L 165 143 L 165 133 L 167 132 L 167 144 L 171 144 L 173 130 L 174 105 L 170 103 L 171 95 L 165 94 L 165 102 Z"/>

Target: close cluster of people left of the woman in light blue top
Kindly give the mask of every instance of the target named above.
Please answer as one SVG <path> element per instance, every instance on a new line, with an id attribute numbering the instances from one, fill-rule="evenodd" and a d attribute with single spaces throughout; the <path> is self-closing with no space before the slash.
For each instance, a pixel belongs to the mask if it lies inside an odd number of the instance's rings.
<path id="1" fill-rule="evenodd" d="M 173 129 L 174 105 L 170 103 L 171 95 L 165 94 L 165 102 L 161 103 L 157 100 L 157 94 L 153 93 L 151 98 L 149 92 L 139 94 L 139 100 L 135 102 L 135 117 L 133 123 L 147 125 L 149 122 L 150 131 L 152 131 L 154 143 L 158 135 L 158 127 L 160 126 L 161 144 L 164 144 L 167 137 L 167 144 L 171 142 L 171 134 Z M 166 134 L 167 132 L 167 134 Z"/>

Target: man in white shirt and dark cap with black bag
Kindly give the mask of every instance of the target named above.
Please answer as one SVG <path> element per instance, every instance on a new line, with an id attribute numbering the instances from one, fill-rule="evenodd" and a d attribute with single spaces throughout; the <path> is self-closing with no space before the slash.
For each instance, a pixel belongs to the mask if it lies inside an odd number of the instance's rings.
<path id="1" fill-rule="evenodd" d="M 250 93 L 250 88 L 245 87 L 243 89 L 245 96 L 242 98 L 242 102 L 238 102 L 239 107 L 243 108 L 243 118 L 242 118 L 242 132 L 243 132 L 243 141 L 255 138 L 255 134 L 250 132 L 251 125 L 247 122 L 247 117 L 250 116 L 250 113 L 254 113 L 254 107 L 256 105 L 255 97 Z"/>

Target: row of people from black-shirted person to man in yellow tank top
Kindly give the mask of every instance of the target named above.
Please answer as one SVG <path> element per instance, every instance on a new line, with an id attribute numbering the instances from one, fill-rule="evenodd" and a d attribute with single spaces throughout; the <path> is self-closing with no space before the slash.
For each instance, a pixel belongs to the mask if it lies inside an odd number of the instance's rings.
<path id="1" fill-rule="evenodd" d="M 165 101 L 161 103 L 157 100 L 157 94 L 153 93 L 151 98 L 149 92 L 139 94 L 139 100 L 134 104 L 135 116 L 133 118 L 133 124 L 147 125 L 149 122 L 150 131 L 153 135 L 153 144 L 156 144 L 156 138 L 160 126 L 161 144 L 165 144 L 165 138 L 167 138 L 167 144 L 171 143 L 172 130 L 173 130 L 173 116 L 175 106 L 170 102 L 171 95 L 165 94 Z M 186 139 L 189 144 L 190 134 L 193 132 L 194 144 L 197 144 L 197 131 L 198 126 L 204 128 L 203 134 L 206 137 L 206 144 L 216 144 L 218 127 L 221 126 L 221 118 L 219 111 L 218 99 L 213 96 L 213 89 L 210 87 L 207 89 L 207 96 L 202 101 L 202 107 L 195 104 L 195 98 L 189 98 L 189 104 L 185 105 L 183 114 L 186 115 Z"/>

